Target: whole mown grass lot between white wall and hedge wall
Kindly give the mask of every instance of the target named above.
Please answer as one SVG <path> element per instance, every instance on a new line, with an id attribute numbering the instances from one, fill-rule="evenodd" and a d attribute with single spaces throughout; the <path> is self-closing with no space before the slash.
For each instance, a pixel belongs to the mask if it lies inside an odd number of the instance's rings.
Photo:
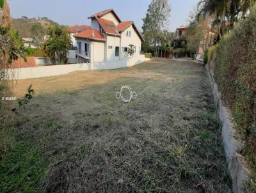
<path id="1" fill-rule="evenodd" d="M 36 97 L 4 133 L 0 192 L 231 192 L 204 66 L 157 60 L 18 83 L 17 96 L 33 84 Z M 115 98 L 123 85 L 136 100 Z"/>

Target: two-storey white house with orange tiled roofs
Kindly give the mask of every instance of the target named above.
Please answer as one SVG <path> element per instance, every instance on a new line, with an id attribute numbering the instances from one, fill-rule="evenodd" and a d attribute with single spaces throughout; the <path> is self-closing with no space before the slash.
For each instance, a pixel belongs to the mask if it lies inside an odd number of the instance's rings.
<path id="1" fill-rule="evenodd" d="M 140 54 L 143 37 L 134 22 L 122 22 L 113 9 L 88 17 L 92 27 L 76 33 L 76 56 L 81 63 L 119 61 L 127 57 L 127 49 L 134 45 L 134 54 Z"/>

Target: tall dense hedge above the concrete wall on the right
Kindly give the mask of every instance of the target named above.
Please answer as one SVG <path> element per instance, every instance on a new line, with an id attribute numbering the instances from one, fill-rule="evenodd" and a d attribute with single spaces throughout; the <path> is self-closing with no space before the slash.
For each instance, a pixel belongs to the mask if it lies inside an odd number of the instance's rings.
<path id="1" fill-rule="evenodd" d="M 216 47 L 214 77 L 244 141 L 256 179 L 256 7 Z"/>

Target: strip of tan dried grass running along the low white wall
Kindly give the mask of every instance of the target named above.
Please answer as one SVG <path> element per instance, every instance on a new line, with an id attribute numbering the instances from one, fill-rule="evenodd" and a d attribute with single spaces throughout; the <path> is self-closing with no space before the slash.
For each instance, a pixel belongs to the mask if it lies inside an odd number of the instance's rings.
<path id="1" fill-rule="evenodd" d="M 154 64 L 154 61 L 148 61 L 150 64 Z M 95 84 L 106 84 L 111 81 L 122 77 L 152 77 L 154 79 L 175 79 L 175 77 L 163 77 L 163 73 L 154 72 L 152 70 L 147 71 L 136 67 L 131 67 L 129 70 L 102 70 L 102 71 L 77 71 L 68 73 L 66 75 L 58 75 L 52 77 L 45 77 L 42 79 L 26 79 L 11 82 L 11 88 L 13 89 L 13 95 L 22 97 L 26 94 L 26 88 L 30 84 L 33 84 L 35 89 L 35 95 L 42 93 L 51 93 L 52 91 L 74 91 L 77 89 L 83 89 Z"/>

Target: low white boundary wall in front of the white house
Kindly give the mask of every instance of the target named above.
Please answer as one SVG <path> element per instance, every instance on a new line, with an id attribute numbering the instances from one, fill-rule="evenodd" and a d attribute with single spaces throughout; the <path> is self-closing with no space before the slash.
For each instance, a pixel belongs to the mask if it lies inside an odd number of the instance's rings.
<path id="1" fill-rule="evenodd" d="M 123 68 L 138 65 L 147 60 L 149 59 L 145 58 L 145 55 L 134 55 L 132 58 L 126 58 L 121 61 L 15 68 L 10 70 L 9 73 L 10 77 L 13 77 L 12 79 L 35 79 L 53 75 L 62 75 L 79 70 L 110 70 L 115 68 Z"/>

